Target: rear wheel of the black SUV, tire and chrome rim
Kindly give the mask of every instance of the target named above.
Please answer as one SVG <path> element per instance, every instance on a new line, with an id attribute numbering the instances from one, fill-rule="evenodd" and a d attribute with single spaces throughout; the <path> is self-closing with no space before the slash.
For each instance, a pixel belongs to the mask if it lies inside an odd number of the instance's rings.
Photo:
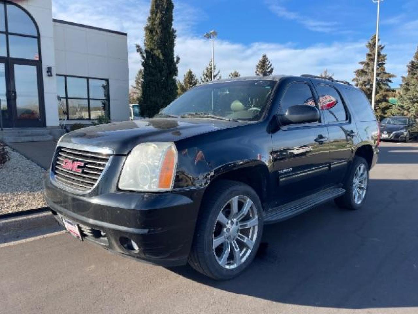
<path id="1" fill-rule="evenodd" d="M 357 210 L 362 207 L 369 187 L 369 165 L 363 157 L 355 156 L 344 182 L 345 194 L 334 201 L 340 208 Z"/>

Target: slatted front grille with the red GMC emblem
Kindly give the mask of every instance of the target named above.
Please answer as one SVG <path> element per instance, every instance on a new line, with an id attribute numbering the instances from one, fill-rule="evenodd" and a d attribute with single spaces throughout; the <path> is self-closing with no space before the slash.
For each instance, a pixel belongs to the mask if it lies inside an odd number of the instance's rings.
<path id="1" fill-rule="evenodd" d="M 89 191 L 99 180 L 110 156 L 110 154 L 58 147 L 52 171 L 56 181 L 62 185 L 81 192 Z M 74 162 L 82 163 L 76 167 L 79 172 L 71 169 Z"/>

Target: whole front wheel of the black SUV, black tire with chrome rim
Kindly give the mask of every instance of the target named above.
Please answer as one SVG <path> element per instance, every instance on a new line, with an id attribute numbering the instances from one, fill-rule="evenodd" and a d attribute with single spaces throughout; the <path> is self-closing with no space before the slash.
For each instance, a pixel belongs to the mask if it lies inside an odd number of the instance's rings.
<path id="1" fill-rule="evenodd" d="M 213 279 L 234 278 L 254 259 L 262 234 L 257 193 L 246 184 L 220 180 L 205 193 L 188 262 Z"/>

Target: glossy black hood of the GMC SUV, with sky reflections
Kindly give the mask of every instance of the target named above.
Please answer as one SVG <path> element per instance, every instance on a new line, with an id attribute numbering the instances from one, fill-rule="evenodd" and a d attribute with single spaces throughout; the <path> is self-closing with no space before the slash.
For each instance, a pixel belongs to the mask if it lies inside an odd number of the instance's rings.
<path id="1" fill-rule="evenodd" d="M 176 142 L 198 134 L 240 125 L 214 119 L 154 118 L 124 121 L 72 131 L 60 143 L 107 147 L 115 154 L 127 154 L 145 142 Z"/>

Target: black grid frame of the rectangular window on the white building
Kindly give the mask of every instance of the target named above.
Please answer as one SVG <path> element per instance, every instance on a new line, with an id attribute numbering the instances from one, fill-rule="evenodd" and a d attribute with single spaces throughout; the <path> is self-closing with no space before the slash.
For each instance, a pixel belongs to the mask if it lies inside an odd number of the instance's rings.
<path id="1" fill-rule="evenodd" d="M 101 78 L 101 77 L 87 77 L 87 76 L 79 76 L 79 75 L 66 75 L 66 74 L 57 74 L 56 77 L 64 77 L 64 90 L 65 90 L 65 97 L 60 96 L 61 101 L 65 100 L 65 108 L 67 113 L 66 121 L 97 121 L 97 119 L 92 119 L 91 111 L 90 111 L 90 100 L 105 100 L 107 103 L 107 108 L 104 110 L 104 114 L 110 118 L 110 85 L 109 79 Z M 67 77 L 74 77 L 74 78 L 81 78 L 85 79 L 87 83 L 87 98 L 80 98 L 80 97 L 68 97 L 68 86 L 67 86 Z M 106 98 L 90 98 L 90 84 L 89 80 L 103 80 L 107 83 L 107 95 Z M 71 119 L 69 116 L 69 101 L 70 99 L 75 100 L 87 100 L 87 110 L 89 114 L 89 118 L 87 119 Z"/>

